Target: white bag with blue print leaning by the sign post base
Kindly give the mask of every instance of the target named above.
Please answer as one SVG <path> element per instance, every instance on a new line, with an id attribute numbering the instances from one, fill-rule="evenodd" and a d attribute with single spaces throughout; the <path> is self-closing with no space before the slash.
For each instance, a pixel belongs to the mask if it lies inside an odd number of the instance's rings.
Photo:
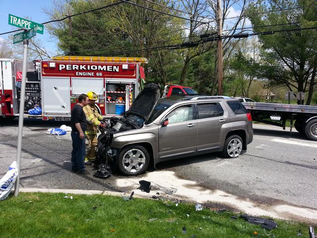
<path id="1" fill-rule="evenodd" d="M 9 171 L 0 179 L 0 200 L 4 200 L 8 197 L 16 177 L 18 176 L 18 169 L 16 168 L 16 162 L 14 161 L 10 167 Z"/>

